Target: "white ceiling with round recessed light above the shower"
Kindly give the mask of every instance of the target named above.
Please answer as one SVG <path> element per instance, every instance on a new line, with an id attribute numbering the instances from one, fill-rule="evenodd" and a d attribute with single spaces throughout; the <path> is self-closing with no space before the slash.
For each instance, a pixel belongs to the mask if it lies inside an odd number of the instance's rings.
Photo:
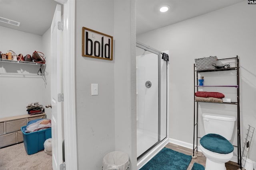
<path id="1" fill-rule="evenodd" d="M 242 1 L 244 0 L 137 0 L 136 34 L 188 20 Z M 247 4 L 247 1 L 245 3 Z M 170 10 L 160 12 L 162 5 L 170 6 Z"/>

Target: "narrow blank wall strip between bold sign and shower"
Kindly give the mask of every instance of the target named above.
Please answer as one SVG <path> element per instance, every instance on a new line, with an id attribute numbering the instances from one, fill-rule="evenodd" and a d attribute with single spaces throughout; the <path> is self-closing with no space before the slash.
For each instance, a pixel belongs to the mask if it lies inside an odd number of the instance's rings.
<path id="1" fill-rule="evenodd" d="M 131 170 L 137 169 L 135 2 L 114 1 L 115 149 L 128 153 Z"/>

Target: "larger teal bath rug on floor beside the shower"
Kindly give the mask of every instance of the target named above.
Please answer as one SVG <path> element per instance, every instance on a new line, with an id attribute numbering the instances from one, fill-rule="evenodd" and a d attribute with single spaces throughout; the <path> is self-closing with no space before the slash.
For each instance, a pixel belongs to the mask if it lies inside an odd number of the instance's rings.
<path id="1" fill-rule="evenodd" d="M 164 148 L 140 170 L 187 170 L 191 159 L 191 155 Z"/>

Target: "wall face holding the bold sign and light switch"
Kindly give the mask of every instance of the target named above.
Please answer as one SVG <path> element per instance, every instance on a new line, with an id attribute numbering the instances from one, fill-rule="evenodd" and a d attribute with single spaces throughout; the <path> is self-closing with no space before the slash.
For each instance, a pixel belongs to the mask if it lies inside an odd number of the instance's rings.
<path id="1" fill-rule="evenodd" d="M 114 60 L 82 57 L 82 27 L 114 35 L 114 1 L 76 0 L 76 108 L 78 168 L 101 170 L 115 148 Z M 115 37 L 114 37 L 115 39 Z M 91 84 L 98 96 L 91 96 Z"/>

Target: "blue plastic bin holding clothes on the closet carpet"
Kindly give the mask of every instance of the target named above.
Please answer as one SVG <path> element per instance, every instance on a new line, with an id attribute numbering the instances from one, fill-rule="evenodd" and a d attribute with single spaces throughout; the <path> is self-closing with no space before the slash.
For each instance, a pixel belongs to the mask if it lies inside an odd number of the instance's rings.
<path id="1" fill-rule="evenodd" d="M 34 154 L 40 150 L 44 150 L 44 141 L 52 137 L 52 128 L 31 133 L 25 133 L 25 130 L 26 126 L 21 127 L 24 147 L 27 154 Z"/>

